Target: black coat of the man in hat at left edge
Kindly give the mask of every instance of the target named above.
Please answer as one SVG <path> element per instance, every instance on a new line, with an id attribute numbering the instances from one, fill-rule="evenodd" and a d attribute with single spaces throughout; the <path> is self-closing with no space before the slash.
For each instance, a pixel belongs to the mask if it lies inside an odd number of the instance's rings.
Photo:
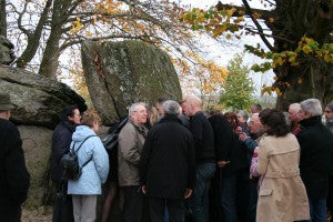
<path id="1" fill-rule="evenodd" d="M 24 202 L 29 185 L 20 132 L 12 122 L 0 119 L 0 208 Z"/>

